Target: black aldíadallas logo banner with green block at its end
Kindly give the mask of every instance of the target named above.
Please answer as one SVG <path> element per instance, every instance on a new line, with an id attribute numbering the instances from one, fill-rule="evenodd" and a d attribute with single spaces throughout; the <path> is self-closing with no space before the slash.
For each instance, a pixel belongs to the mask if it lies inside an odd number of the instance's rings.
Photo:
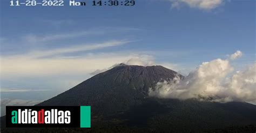
<path id="1" fill-rule="evenodd" d="M 90 106 L 6 106 L 8 128 L 90 128 Z"/>

